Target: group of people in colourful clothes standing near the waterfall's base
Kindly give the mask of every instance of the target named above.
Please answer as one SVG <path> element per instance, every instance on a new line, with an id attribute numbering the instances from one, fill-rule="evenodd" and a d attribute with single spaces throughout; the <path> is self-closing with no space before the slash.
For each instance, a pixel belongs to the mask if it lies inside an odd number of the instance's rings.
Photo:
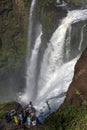
<path id="1" fill-rule="evenodd" d="M 36 115 L 35 108 L 33 107 L 32 102 L 30 101 L 28 107 L 22 111 L 16 111 L 15 109 L 11 110 L 6 115 L 6 121 L 14 122 L 17 126 L 25 125 L 27 127 L 36 126 Z"/>

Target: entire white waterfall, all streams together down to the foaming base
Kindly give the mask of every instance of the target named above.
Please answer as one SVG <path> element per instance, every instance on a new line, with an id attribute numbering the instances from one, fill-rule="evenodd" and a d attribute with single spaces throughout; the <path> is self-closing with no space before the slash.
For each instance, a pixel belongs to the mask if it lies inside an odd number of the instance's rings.
<path id="1" fill-rule="evenodd" d="M 34 0 L 33 3 L 35 3 Z M 31 7 L 32 14 L 34 6 Z M 26 90 L 20 99 L 21 102 L 25 103 L 32 100 L 37 111 L 40 109 L 44 111 L 44 118 L 49 112 L 57 109 L 65 99 L 65 93 L 73 78 L 74 66 L 80 55 L 78 53 L 75 58 L 70 58 L 72 24 L 86 19 L 87 9 L 69 11 L 67 16 L 62 19 L 49 43 L 47 43 L 48 46 L 44 52 L 36 84 L 37 59 L 42 43 L 41 36 L 43 35 L 42 26 L 38 26 L 38 36 L 31 51 L 31 57 L 27 61 Z M 86 25 L 81 29 L 81 39 L 77 50 L 81 50 L 85 27 Z M 32 28 L 30 28 L 31 31 Z M 67 37 L 66 34 L 68 34 Z"/>

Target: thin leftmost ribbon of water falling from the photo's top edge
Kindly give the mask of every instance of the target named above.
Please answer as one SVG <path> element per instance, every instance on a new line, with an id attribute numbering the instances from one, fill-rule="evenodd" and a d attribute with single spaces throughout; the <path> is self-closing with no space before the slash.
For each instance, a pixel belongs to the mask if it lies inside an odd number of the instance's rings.
<path id="1" fill-rule="evenodd" d="M 35 66 L 31 65 L 34 61 L 33 56 L 29 57 L 29 53 L 30 53 L 30 44 L 32 44 L 32 30 L 33 30 L 33 16 L 34 16 L 34 8 L 36 5 L 36 0 L 32 0 L 31 3 L 31 8 L 30 8 L 30 15 L 29 15 L 29 31 L 28 31 L 28 46 L 27 46 L 27 58 L 26 58 L 26 62 L 27 62 L 27 70 L 26 70 L 26 86 L 27 88 L 29 88 L 31 85 L 29 82 L 31 82 L 32 79 L 34 79 L 34 70 L 35 70 Z M 36 49 L 36 46 L 35 46 Z M 35 51 L 33 51 L 32 53 L 35 53 Z M 30 65 L 29 65 L 30 64 Z M 31 68 L 32 67 L 32 68 Z M 31 73 L 31 69 L 33 69 L 33 73 Z M 31 75 L 32 74 L 32 75 Z M 31 75 L 31 76 L 30 76 Z M 32 80 L 33 81 L 33 80 Z M 31 86 L 32 87 L 32 86 Z M 31 92 L 31 91 L 30 91 Z M 26 92 L 25 92 L 26 93 Z M 31 92 L 32 94 L 32 92 Z M 24 96 L 26 98 L 26 96 Z"/>

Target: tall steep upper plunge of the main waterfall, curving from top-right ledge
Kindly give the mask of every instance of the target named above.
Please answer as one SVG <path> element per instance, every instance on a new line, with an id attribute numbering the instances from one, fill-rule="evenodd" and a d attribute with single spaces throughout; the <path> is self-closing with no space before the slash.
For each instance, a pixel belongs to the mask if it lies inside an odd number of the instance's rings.
<path id="1" fill-rule="evenodd" d="M 85 19 L 87 19 L 87 10 L 69 11 L 67 17 L 62 20 L 60 26 L 54 32 L 44 54 L 38 90 L 41 88 L 47 89 L 47 86 L 50 86 L 52 83 L 53 75 L 55 75 L 55 72 L 63 65 L 63 49 L 67 29 L 69 29 L 71 24 Z M 39 91 L 38 93 L 40 95 L 41 92 Z M 41 95 L 43 95 L 43 93 Z"/>

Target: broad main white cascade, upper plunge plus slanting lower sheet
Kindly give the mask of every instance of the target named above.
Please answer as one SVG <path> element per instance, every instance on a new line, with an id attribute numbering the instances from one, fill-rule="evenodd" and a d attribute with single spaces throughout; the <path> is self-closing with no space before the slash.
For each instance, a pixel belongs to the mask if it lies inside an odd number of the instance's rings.
<path id="1" fill-rule="evenodd" d="M 86 19 L 87 10 L 69 11 L 66 18 L 62 20 L 60 26 L 50 39 L 48 47 L 45 50 L 38 81 L 38 96 L 35 100 L 37 109 L 43 108 L 44 106 L 44 111 L 47 111 L 46 100 L 67 91 L 73 77 L 74 65 L 79 54 L 77 58 L 64 64 L 63 52 L 66 32 L 71 24 Z M 68 46 L 69 44 L 70 42 Z M 62 96 L 61 98 L 55 99 L 55 101 L 49 101 L 52 111 L 58 108 L 64 98 L 65 96 Z"/>

